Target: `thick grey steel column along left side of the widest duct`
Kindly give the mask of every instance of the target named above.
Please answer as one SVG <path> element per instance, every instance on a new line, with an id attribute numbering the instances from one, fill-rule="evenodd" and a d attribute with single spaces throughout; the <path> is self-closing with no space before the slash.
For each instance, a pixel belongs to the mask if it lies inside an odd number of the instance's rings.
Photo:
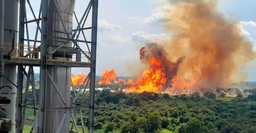
<path id="1" fill-rule="evenodd" d="M 46 60 L 47 60 L 47 18 L 48 0 L 42 0 L 41 20 L 41 66 L 40 66 L 40 94 L 38 110 L 38 133 L 44 133 L 45 89 L 47 86 Z"/>

